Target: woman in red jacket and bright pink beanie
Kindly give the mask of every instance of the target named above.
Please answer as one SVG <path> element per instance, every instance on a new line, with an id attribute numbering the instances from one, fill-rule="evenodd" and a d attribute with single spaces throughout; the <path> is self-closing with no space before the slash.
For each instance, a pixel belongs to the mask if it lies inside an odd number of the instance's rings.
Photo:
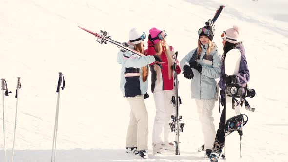
<path id="1" fill-rule="evenodd" d="M 163 68 L 151 64 L 151 91 L 153 93 L 156 106 L 156 116 L 152 132 L 153 154 L 162 153 L 163 150 L 174 151 L 175 146 L 169 142 L 171 131 L 169 122 L 171 115 L 174 115 L 174 107 L 171 104 L 172 96 L 175 95 L 173 84 L 173 63 L 177 62 L 176 72 L 181 73 L 176 55 L 172 46 L 168 46 L 165 41 L 167 34 L 165 30 L 151 28 L 149 30 L 147 55 L 156 55 L 164 62 Z M 164 138 L 162 138 L 162 132 Z"/>

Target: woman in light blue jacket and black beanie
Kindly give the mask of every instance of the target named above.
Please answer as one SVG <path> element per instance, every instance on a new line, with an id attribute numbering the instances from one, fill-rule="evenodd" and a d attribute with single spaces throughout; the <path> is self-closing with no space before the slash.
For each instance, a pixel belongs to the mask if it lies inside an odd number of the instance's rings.
<path id="1" fill-rule="evenodd" d="M 184 70 L 184 77 L 192 79 L 191 97 L 196 101 L 204 136 L 205 155 L 209 157 L 216 134 L 212 111 L 218 100 L 219 88 L 215 79 L 220 77 L 222 63 L 216 45 L 212 42 L 213 29 L 204 26 L 199 29 L 198 35 L 198 47 L 180 61 L 180 67 Z"/>

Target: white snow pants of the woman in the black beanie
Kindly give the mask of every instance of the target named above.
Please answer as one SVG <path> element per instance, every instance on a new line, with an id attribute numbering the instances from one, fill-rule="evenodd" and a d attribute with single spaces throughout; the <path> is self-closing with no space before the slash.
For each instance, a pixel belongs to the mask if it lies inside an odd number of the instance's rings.
<path id="1" fill-rule="evenodd" d="M 204 150 L 206 149 L 212 150 L 216 135 L 212 112 L 216 101 L 215 99 L 201 99 L 201 100 L 195 99 L 195 100 L 204 136 Z"/>

